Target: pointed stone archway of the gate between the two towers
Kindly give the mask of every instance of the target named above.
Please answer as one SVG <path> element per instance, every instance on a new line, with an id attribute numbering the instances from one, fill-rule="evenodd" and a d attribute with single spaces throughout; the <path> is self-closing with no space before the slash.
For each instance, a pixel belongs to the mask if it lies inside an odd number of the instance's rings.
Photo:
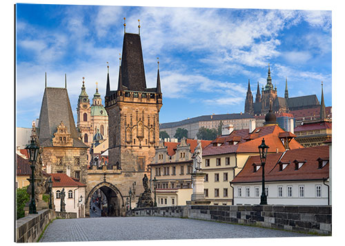
<path id="1" fill-rule="evenodd" d="M 101 189 L 103 194 L 106 195 L 108 201 L 107 216 L 125 216 L 126 207 L 124 205 L 124 198 L 122 197 L 121 192 L 119 192 L 119 189 L 117 189 L 115 185 L 106 181 L 93 187 L 88 193 L 88 196 L 86 196 L 86 216 L 90 216 L 90 199 L 97 189 Z"/>

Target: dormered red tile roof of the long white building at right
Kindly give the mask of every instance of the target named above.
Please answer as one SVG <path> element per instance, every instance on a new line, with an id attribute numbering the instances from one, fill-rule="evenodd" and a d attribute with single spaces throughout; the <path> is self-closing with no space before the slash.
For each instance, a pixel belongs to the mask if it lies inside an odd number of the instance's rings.
<path id="1" fill-rule="evenodd" d="M 288 150 L 280 160 L 282 163 L 288 163 L 286 168 L 279 171 L 279 158 L 282 153 L 268 154 L 265 165 L 266 181 L 311 181 L 322 180 L 329 177 L 329 164 L 319 169 L 318 158 L 329 160 L 328 145 L 308 147 L 296 150 Z M 299 170 L 295 170 L 293 161 L 305 163 Z M 261 165 L 259 156 L 250 156 L 244 168 L 233 179 L 231 183 L 254 183 L 262 181 L 261 168 L 257 172 L 253 172 L 253 163 Z"/>

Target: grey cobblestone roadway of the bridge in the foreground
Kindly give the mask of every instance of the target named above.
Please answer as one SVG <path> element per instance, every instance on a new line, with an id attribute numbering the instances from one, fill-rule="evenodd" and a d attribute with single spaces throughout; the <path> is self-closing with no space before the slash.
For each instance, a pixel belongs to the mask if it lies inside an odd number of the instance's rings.
<path id="1" fill-rule="evenodd" d="M 53 221 L 40 242 L 311 236 L 276 229 L 166 217 L 70 218 Z"/>

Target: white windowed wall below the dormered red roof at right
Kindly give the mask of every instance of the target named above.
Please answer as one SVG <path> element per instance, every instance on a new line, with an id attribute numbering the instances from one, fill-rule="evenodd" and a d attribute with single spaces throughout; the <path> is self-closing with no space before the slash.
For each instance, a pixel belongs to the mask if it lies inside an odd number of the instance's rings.
<path id="1" fill-rule="evenodd" d="M 233 187 L 234 205 L 260 203 L 262 183 L 237 183 Z M 267 203 L 270 205 L 328 205 L 328 187 L 322 181 L 265 183 L 265 187 L 268 189 Z"/>

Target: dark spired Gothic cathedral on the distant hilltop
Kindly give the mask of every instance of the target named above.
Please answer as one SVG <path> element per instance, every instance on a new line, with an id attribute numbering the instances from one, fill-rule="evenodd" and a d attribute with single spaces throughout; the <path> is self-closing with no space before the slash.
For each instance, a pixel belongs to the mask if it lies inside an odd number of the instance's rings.
<path id="1" fill-rule="evenodd" d="M 319 101 L 315 94 L 289 97 L 287 79 L 285 81 L 284 97 L 279 97 L 277 95 L 277 87 L 273 88 L 272 78 L 270 77 L 270 67 L 268 65 L 267 83 L 262 88 L 262 93 L 260 94 L 259 82 L 257 82 L 255 102 L 253 101 L 253 94 L 250 91 L 250 81 L 248 81 L 244 112 L 252 115 L 264 115 L 270 110 L 270 106 L 272 106 L 272 110 L 275 113 L 288 113 L 293 110 L 319 107 L 319 105 Z"/>

